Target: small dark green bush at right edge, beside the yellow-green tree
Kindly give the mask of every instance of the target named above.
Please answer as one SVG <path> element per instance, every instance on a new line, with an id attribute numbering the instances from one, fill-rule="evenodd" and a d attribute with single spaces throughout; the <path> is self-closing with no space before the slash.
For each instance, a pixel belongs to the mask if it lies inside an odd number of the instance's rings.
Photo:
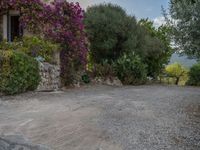
<path id="1" fill-rule="evenodd" d="M 188 85 L 200 86 L 200 63 L 195 64 L 189 71 Z"/>

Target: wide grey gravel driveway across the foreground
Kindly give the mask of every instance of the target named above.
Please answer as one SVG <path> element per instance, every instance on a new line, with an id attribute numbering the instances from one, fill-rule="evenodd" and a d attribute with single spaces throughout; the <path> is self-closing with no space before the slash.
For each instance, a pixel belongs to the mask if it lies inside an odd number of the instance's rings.
<path id="1" fill-rule="evenodd" d="M 200 88 L 91 86 L 1 97 L 0 135 L 53 150 L 200 150 Z"/>

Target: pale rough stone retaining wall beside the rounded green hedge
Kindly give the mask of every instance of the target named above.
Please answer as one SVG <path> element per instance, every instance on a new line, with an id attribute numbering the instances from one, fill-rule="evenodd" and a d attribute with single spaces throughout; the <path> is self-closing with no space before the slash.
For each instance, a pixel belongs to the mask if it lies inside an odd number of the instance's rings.
<path id="1" fill-rule="evenodd" d="M 61 86 L 60 82 L 60 66 L 51 65 L 49 63 L 40 63 L 41 82 L 37 91 L 53 91 L 58 90 Z"/>

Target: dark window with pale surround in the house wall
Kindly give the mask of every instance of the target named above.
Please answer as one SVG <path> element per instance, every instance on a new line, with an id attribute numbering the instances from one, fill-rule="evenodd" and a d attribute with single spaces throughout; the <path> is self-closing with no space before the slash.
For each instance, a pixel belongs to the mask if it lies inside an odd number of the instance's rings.
<path id="1" fill-rule="evenodd" d="M 23 35 L 23 30 L 19 24 L 20 13 L 15 10 L 9 10 L 0 15 L 0 40 L 6 39 L 12 42 L 15 38 Z"/>

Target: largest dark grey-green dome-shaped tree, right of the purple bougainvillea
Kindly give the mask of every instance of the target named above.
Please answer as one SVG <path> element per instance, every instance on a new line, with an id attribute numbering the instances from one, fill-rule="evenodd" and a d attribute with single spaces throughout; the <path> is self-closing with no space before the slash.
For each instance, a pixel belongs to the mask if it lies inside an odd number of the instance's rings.
<path id="1" fill-rule="evenodd" d="M 89 7 L 84 22 L 94 63 L 116 61 L 137 45 L 136 19 L 128 16 L 120 6 L 100 4 Z"/>

